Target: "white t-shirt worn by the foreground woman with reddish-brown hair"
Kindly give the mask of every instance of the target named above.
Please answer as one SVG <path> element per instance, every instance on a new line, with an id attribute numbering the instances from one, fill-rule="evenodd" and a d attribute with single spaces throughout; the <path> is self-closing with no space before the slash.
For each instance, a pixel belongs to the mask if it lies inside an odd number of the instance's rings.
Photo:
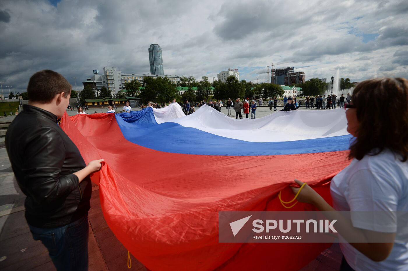
<path id="1" fill-rule="evenodd" d="M 354 159 L 332 179 L 330 193 L 333 207 L 339 211 L 408 211 L 408 161 L 401 162 L 391 151 Z M 354 227 L 388 233 L 397 232 L 396 221 L 390 223 L 393 219 L 392 214 L 386 221 L 384 216 L 351 216 Z M 404 219 L 399 225 L 408 227 L 408 217 L 398 219 Z M 340 247 L 350 267 L 357 271 L 402 271 L 408 270 L 408 244 L 398 243 L 404 238 L 406 233 L 398 229 L 390 255 L 381 262 L 370 260 L 349 243 L 340 243 Z"/>

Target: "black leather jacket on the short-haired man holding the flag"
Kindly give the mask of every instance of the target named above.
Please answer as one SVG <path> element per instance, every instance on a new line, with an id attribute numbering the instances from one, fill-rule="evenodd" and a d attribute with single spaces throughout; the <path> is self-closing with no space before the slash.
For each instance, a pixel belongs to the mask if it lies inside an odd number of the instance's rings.
<path id="1" fill-rule="evenodd" d="M 57 117 L 31 105 L 11 122 L 6 148 L 18 185 L 27 196 L 25 216 L 34 227 L 61 227 L 86 214 L 91 180 L 73 173 L 85 162 Z"/>

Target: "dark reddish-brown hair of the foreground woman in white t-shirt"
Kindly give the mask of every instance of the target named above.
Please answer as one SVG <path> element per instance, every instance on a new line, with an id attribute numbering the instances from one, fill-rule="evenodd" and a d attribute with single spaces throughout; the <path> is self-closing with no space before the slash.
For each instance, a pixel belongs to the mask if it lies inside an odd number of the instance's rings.
<path id="1" fill-rule="evenodd" d="M 404 78 L 379 78 L 359 83 L 352 103 L 360 125 L 350 147 L 350 159 L 377 155 L 390 149 L 408 158 L 408 81 Z"/>

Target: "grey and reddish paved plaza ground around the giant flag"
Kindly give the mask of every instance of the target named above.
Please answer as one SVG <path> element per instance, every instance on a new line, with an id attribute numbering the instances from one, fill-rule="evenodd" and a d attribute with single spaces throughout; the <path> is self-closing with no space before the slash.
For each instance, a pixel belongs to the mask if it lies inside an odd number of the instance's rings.
<path id="1" fill-rule="evenodd" d="M 278 107 L 278 110 L 282 107 Z M 136 109 L 137 110 L 137 109 Z M 273 110 L 273 109 L 272 109 Z M 300 109 L 316 110 L 316 109 Z M 106 112 L 106 109 L 90 109 L 89 112 Z M 67 111 L 69 115 L 76 111 Z M 221 112 L 227 114 L 225 108 Z M 269 107 L 258 107 L 257 117 L 274 114 Z M 11 122 L 15 116 L 4 117 L 0 122 Z M 233 116 L 235 114 L 233 112 Z M 2 140 L 4 141 L 4 138 Z M 91 210 L 89 210 L 89 270 L 128 270 L 127 250 L 118 241 L 102 214 L 99 187 L 93 184 Z M 40 241 L 34 241 L 24 218 L 24 198 L 7 156 L 4 142 L 0 142 L 0 270 L 55 270 L 48 251 Z M 130 270 L 146 270 L 131 256 Z M 341 251 L 337 244 L 322 252 L 303 271 L 339 270 Z"/>

